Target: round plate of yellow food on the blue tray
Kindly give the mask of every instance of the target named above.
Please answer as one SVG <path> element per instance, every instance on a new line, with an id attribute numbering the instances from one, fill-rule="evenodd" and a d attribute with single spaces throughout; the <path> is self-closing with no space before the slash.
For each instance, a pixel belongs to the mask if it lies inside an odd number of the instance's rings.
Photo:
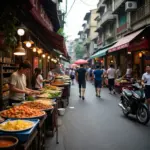
<path id="1" fill-rule="evenodd" d="M 0 124 L 0 131 L 3 132 L 21 132 L 31 129 L 34 126 L 33 121 L 29 120 L 6 120 Z"/>

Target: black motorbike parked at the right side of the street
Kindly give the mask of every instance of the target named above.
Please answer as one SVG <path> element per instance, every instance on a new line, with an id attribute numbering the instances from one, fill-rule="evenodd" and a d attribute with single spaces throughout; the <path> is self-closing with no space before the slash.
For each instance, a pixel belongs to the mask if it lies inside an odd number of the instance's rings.
<path id="1" fill-rule="evenodd" d="M 145 104 L 145 92 L 139 83 L 132 84 L 130 88 L 123 88 L 121 93 L 121 103 L 123 114 L 136 115 L 137 120 L 141 124 L 149 122 L 149 109 Z"/>

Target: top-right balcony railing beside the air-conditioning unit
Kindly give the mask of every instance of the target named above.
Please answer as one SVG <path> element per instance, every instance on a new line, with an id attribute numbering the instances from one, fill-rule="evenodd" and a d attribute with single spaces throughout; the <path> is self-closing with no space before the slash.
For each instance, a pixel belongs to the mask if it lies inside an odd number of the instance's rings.
<path id="1" fill-rule="evenodd" d="M 150 2 L 131 12 L 131 24 L 135 24 L 150 15 Z"/>

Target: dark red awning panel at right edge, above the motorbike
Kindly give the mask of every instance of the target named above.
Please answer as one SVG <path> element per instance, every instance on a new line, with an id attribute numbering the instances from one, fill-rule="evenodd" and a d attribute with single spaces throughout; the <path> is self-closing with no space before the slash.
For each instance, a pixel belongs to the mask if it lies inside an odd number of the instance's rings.
<path id="1" fill-rule="evenodd" d="M 137 51 L 148 48 L 149 48 L 148 40 L 141 40 L 140 42 L 135 42 L 129 45 L 128 51 Z"/>

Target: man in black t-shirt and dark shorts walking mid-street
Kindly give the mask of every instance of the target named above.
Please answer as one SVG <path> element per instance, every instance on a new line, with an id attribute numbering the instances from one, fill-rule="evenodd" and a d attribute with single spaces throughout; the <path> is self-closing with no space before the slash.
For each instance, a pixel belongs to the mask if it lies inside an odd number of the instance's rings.
<path id="1" fill-rule="evenodd" d="M 86 88 L 86 78 L 87 72 L 83 65 L 80 65 L 80 68 L 76 71 L 76 80 L 79 84 L 79 97 L 84 100 L 84 93 Z"/>

